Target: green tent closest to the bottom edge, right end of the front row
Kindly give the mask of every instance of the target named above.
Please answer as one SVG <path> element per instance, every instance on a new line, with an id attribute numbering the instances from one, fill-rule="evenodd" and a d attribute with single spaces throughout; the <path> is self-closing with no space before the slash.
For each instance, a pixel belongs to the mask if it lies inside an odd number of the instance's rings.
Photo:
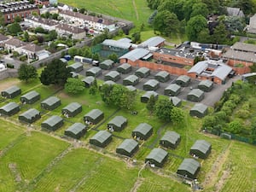
<path id="1" fill-rule="evenodd" d="M 192 158 L 185 158 L 177 168 L 177 175 L 195 179 L 200 171 L 200 162 Z"/>

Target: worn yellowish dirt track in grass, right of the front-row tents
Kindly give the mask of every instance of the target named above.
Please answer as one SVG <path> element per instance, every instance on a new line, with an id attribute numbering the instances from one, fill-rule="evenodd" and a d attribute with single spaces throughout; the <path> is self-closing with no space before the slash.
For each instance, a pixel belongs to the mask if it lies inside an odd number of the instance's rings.
<path id="1" fill-rule="evenodd" d="M 214 191 L 219 192 L 222 189 L 225 180 L 230 176 L 230 171 L 224 170 L 224 163 L 228 160 L 232 145 L 233 141 L 231 141 L 229 146 L 224 148 L 224 151 L 218 155 L 217 160 L 215 160 L 212 165 L 212 170 L 207 174 L 205 181 L 202 183 L 205 189 L 209 189 L 214 186 Z M 222 172 L 222 177 L 218 179 L 220 172 Z"/>

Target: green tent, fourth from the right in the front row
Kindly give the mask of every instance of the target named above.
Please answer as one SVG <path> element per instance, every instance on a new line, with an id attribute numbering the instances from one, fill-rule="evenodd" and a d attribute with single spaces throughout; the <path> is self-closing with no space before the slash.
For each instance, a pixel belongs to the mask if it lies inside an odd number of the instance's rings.
<path id="1" fill-rule="evenodd" d="M 105 148 L 111 141 L 112 134 L 104 130 L 98 131 L 93 137 L 91 137 L 89 143 L 100 148 Z"/>

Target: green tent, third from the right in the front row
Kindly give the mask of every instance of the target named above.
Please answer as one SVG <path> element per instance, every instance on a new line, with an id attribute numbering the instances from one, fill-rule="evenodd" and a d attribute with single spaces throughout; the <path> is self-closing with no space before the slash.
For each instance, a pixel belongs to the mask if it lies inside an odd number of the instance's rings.
<path id="1" fill-rule="evenodd" d="M 131 157 L 137 152 L 138 148 L 139 144 L 137 141 L 134 139 L 125 139 L 125 141 L 116 148 L 116 153 Z"/>

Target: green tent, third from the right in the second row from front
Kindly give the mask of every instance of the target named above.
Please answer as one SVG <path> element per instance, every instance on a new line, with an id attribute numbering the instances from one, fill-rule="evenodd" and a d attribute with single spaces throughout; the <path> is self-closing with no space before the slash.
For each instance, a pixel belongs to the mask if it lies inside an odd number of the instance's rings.
<path id="1" fill-rule="evenodd" d="M 132 131 L 132 137 L 139 140 L 147 140 L 153 133 L 153 127 L 147 123 L 141 123 Z"/>

